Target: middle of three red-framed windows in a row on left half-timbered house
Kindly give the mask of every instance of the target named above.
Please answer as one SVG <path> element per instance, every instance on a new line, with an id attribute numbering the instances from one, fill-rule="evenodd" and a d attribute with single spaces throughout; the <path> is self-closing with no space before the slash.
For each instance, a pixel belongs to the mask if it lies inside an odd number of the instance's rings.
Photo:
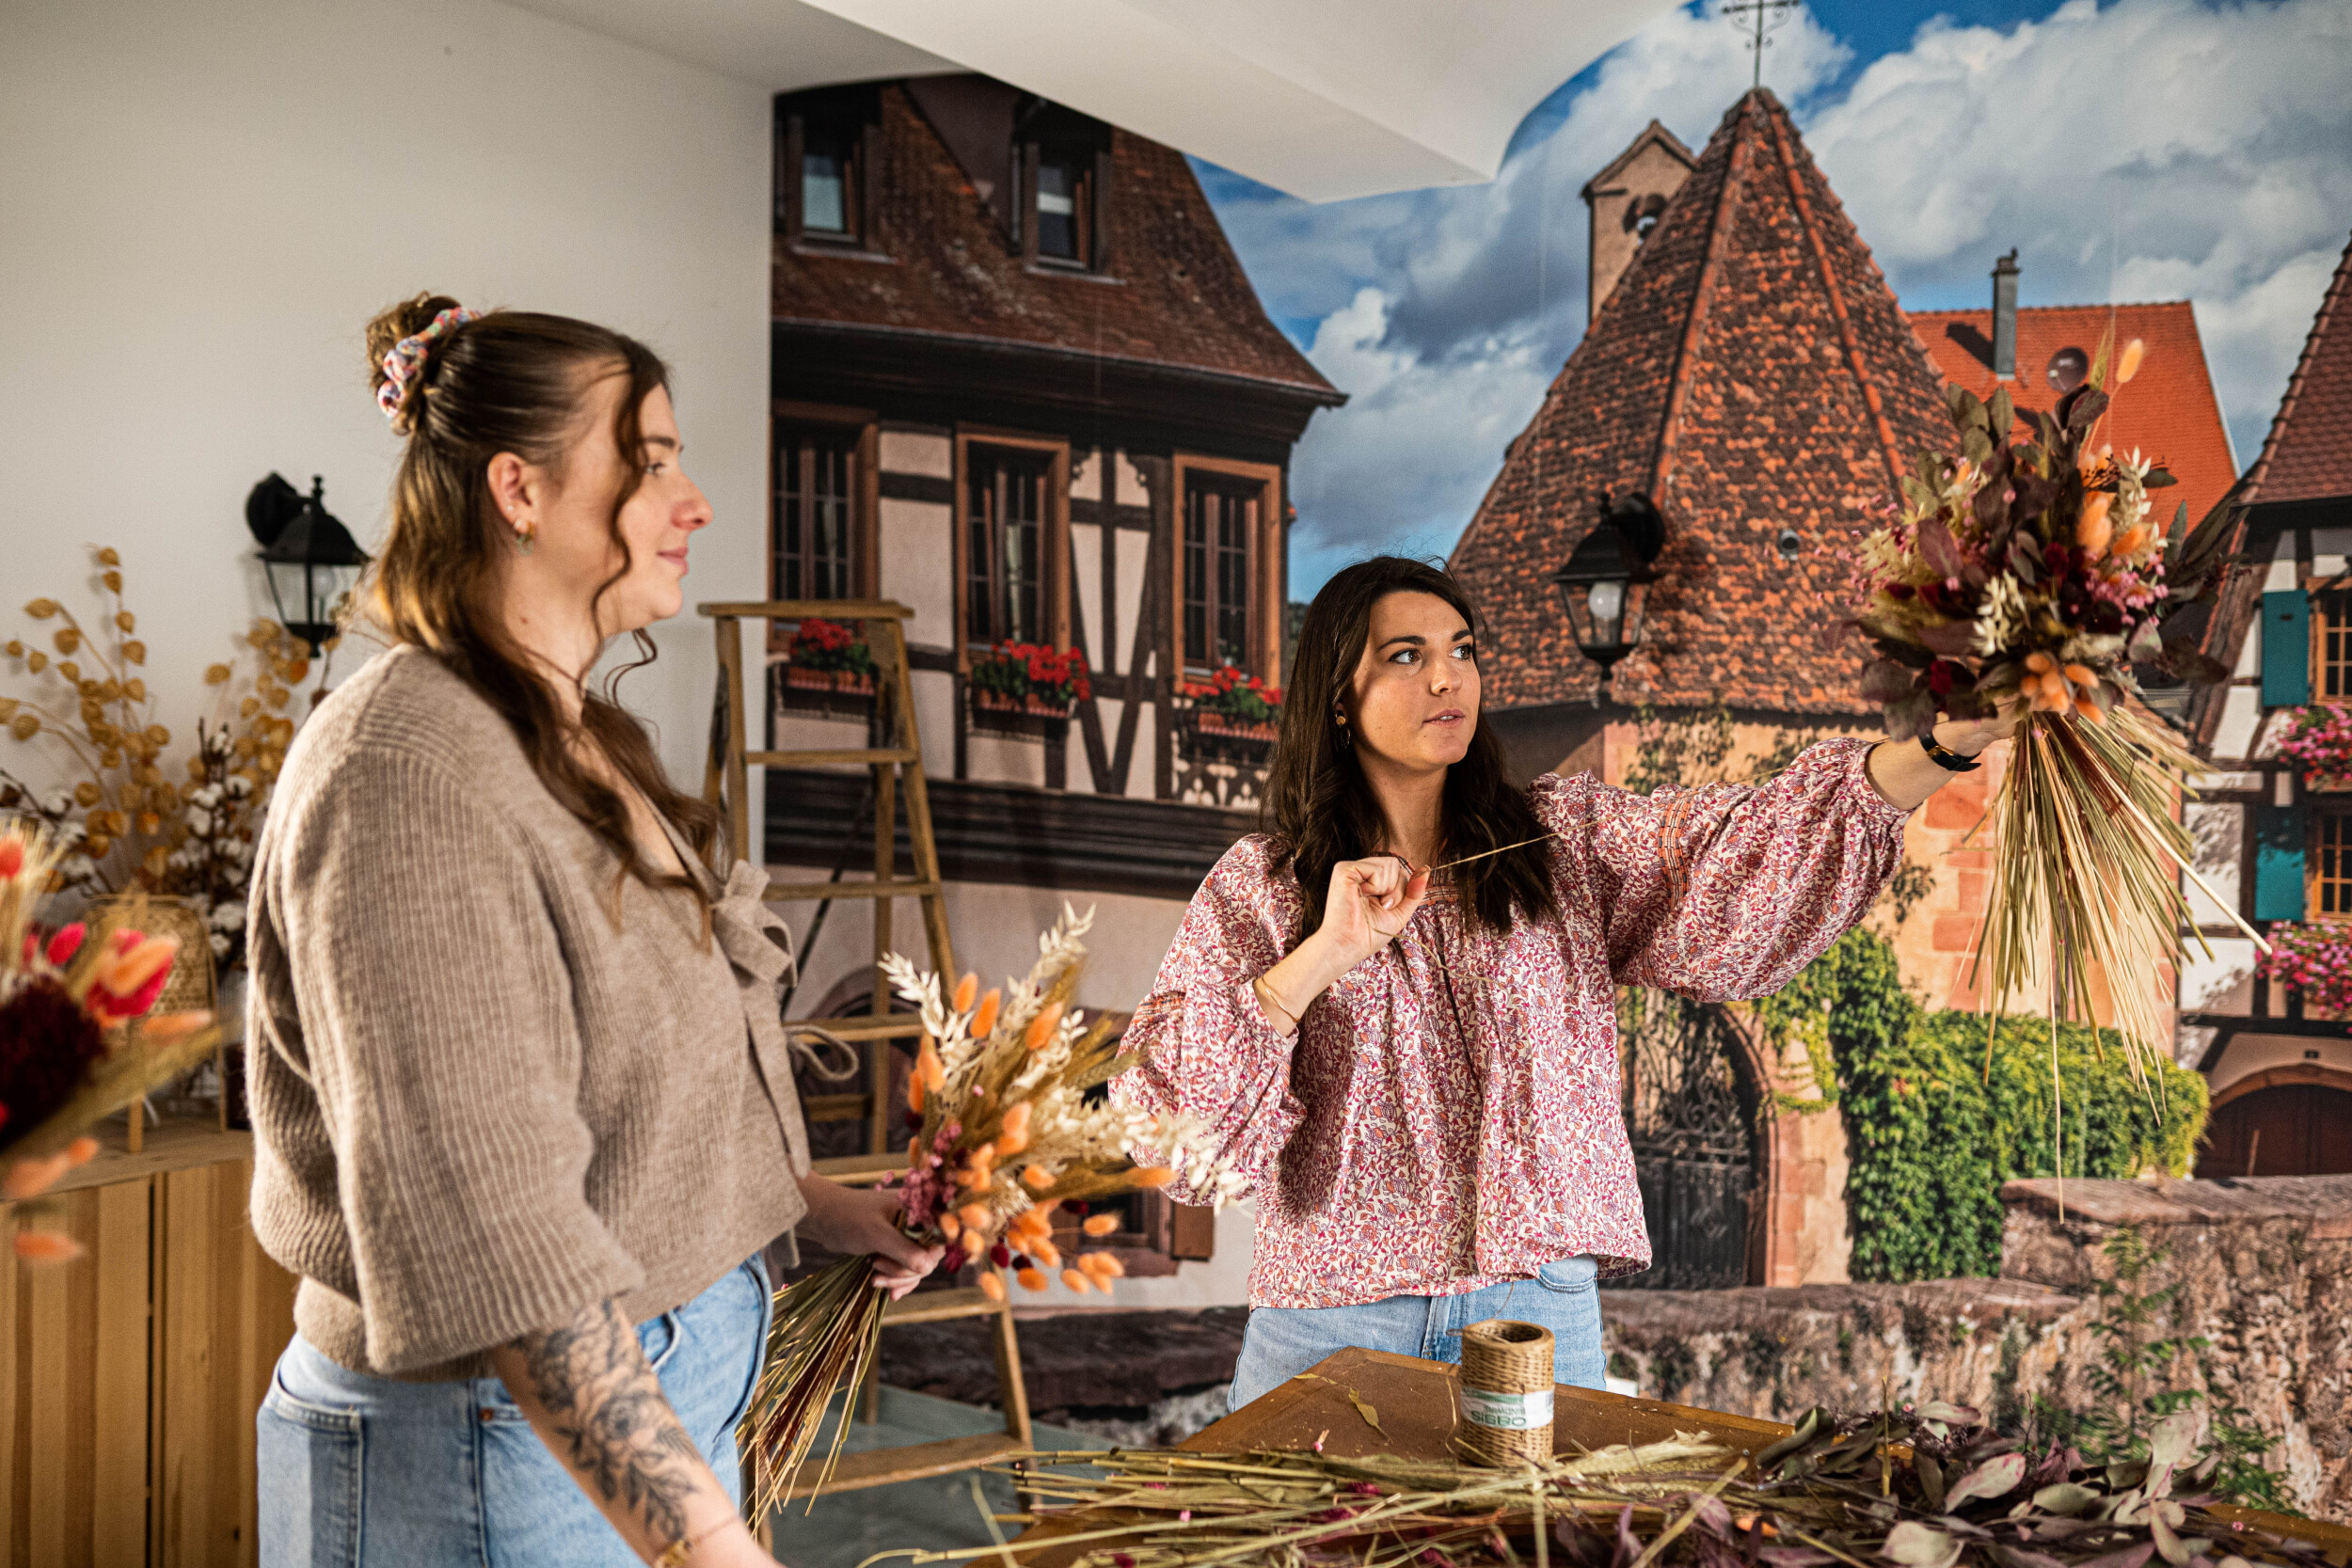
<path id="1" fill-rule="evenodd" d="M 957 435 L 957 618 L 964 646 L 1070 646 L 1070 449 Z"/>

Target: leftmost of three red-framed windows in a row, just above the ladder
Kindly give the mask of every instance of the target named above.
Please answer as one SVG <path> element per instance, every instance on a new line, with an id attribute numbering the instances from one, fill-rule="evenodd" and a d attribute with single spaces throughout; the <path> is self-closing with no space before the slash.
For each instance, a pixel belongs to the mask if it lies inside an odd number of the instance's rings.
<path id="1" fill-rule="evenodd" d="M 771 599 L 875 592 L 877 435 L 866 409 L 779 402 L 769 437 Z M 771 639 L 786 637 L 771 625 Z"/>

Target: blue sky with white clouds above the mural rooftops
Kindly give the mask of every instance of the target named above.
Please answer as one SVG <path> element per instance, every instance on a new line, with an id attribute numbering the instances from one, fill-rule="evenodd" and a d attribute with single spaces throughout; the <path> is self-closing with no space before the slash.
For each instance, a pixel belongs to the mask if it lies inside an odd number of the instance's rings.
<path id="1" fill-rule="evenodd" d="M 1693 150 L 1748 87 L 1717 0 L 1538 106 L 1489 186 L 1310 207 L 1200 167 L 1268 310 L 1350 393 L 1298 444 L 1291 590 L 1437 555 L 1585 327 L 1578 188 L 1651 120 Z M 2192 299 L 2239 463 L 2352 230 L 2345 0 L 1809 0 L 1764 54 L 1907 308 Z"/>

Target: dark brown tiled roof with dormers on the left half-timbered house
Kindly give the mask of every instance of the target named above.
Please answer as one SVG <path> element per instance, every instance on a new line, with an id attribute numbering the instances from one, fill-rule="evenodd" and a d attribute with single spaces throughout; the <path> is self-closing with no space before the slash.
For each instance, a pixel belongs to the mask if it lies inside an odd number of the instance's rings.
<path id="1" fill-rule="evenodd" d="M 889 261 L 774 244 L 779 322 L 938 331 L 1329 393 L 1265 317 L 1181 153 L 1112 132 L 1110 277 L 1030 270 L 901 87 L 882 89 L 877 244 Z"/>

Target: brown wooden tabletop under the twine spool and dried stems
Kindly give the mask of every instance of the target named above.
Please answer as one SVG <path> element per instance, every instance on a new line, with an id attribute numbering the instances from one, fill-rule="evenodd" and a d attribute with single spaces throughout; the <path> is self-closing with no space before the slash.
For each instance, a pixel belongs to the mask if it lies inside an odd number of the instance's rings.
<path id="1" fill-rule="evenodd" d="M 1369 1403 L 1381 1427 L 1371 1429 L 1348 1394 Z M 1395 1453 L 1414 1460 L 1446 1458 L 1454 1443 L 1454 1427 L 1461 1410 L 1461 1368 L 1444 1361 L 1418 1361 L 1392 1356 L 1378 1349 L 1343 1349 L 1324 1356 L 1308 1378 L 1291 1378 L 1282 1387 L 1249 1401 L 1225 1420 L 1192 1434 L 1178 1448 L 1202 1453 L 1244 1448 L 1312 1448 L 1357 1458 L 1367 1453 Z M 1670 1406 L 1656 1399 L 1630 1399 L 1625 1394 L 1599 1394 L 1557 1385 L 1552 1389 L 1552 1453 L 1576 1455 L 1609 1443 L 1656 1443 L 1677 1432 L 1705 1432 L 1717 1443 L 1740 1453 L 1759 1453 L 1780 1441 L 1795 1427 L 1726 1410 L 1700 1410 L 1696 1406 Z M 2347 1568 L 2352 1563 L 2352 1528 L 2317 1523 L 2310 1519 L 2281 1519 L 2253 1509 L 2213 1509 L 2225 1519 L 2244 1519 L 2265 1530 L 2300 1535 L 2326 1549 L 2328 1563 Z M 1070 1526 L 1058 1526 L 1061 1530 Z M 1054 1549 L 1056 1526 L 1037 1526 L 1021 1537 L 1018 1559 L 1025 1568 L 1063 1568 L 1075 1559 L 1070 1549 Z"/>

